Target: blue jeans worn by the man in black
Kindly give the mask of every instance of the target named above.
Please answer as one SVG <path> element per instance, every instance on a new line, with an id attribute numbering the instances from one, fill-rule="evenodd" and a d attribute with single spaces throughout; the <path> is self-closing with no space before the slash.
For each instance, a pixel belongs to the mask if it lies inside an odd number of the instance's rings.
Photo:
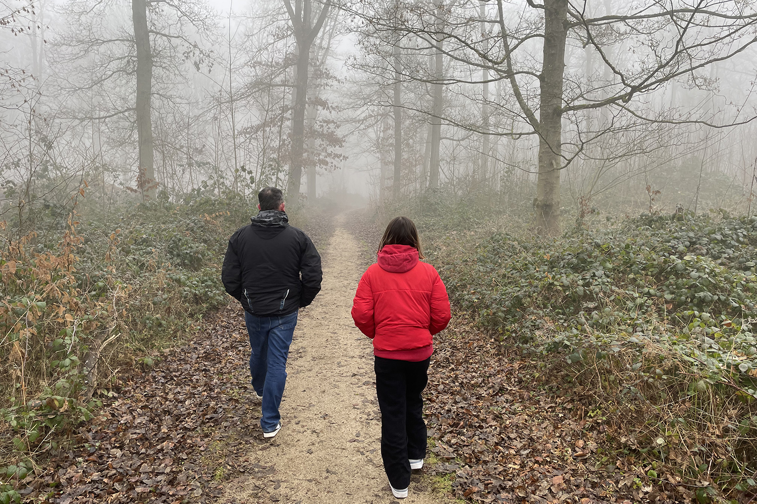
<path id="1" fill-rule="evenodd" d="M 270 432 L 279 424 L 279 405 L 286 384 L 286 360 L 291 336 L 297 325 L 297 314 L 282 317 L 257 317 L 245 311 L 245 324 L 250 335 L 250 375 L 252 387 L 263 396 L 260 427 Z"/>

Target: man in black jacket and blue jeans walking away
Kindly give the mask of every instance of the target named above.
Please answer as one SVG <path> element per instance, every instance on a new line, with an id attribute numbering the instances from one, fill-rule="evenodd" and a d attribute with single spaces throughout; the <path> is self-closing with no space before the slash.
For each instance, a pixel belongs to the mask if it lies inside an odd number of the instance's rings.
<path id="1" fill-rule="evenodd" d="M 245 308 L 250 335 L 250 374 L 264 438 L 281 429 L 279 405 L 286 360 L 299 308 L 321 289 L 321 257 L 307 234 L 288 224 L 284 195 L 266 187 L 257 195 L 260 212 L 229 239 L 221 280 Z"/>

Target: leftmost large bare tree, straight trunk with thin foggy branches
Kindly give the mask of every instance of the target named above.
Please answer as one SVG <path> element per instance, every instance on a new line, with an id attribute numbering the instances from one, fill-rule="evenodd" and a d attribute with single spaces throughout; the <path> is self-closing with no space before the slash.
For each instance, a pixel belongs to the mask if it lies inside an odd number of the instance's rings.
<path id="1" fill-rule="evenodd" d="M 126 137 L 136 130 L 136 191 L 153 199 L 159 182 L 166 180 L 155 173 L 154 113 L 170 101 L 182 104 L 171 108 L 186 110 L 179 85 L 191 75 L 188 68 L 199 71 L 212 64 L 202 45 L 213 26 L 201 0 L 133 0 L 130 7 L 129 26 L 112 2 L 70 0 L 64 5 L 70 21 L 54 41 L 54 85 L 56 94 L 68 97 L 71 106 L 64 110 L 70 119 L 96 120 Z M 92 97 L 100 104 L 96 114 L 78 106 Z M 167 153 L 170 137 L 159 136 L 160 152 Z"/>

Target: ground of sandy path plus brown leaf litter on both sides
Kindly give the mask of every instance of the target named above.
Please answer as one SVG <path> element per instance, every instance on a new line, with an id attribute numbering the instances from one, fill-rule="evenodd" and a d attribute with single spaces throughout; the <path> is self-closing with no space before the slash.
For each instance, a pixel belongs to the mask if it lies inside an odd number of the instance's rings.
<path id="1" fill-rule="evenodd" d="M 276 438 L 262 438 L 242 313 L 230 305 L 187 345 L 123 378 L 72 449 L 27 481 L 28 502 L 394 502 L 379 450 L 372 348 L 350 317 L 372 238 L 361 244 L 352 226 L 340 216 L 321 244 L 323 289 L 294 332 Z M 601 420 L 569 413 L 569 397 L 540 388 L 518 357 L 465 320 L 453 318 L 435 346 L 425 392 L 429 453 L 404 502 L 659 497 L 632 487 L 633 475 L 620 481 L 589 463 Z"/>

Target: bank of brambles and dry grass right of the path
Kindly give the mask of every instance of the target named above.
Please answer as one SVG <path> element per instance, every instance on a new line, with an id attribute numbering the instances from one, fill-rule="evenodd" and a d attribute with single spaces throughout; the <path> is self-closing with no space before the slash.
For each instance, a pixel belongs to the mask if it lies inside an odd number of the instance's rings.
<path id="1" fill-rule="evenodd" d="M 630 457 L 699 502 L 757 490 L 757 218 L 647 214 L 547 239 L 441 192 L 388 203 L 378 227 L 397 214 L 455 309 L 605 433 L 597 468 Z"/>

